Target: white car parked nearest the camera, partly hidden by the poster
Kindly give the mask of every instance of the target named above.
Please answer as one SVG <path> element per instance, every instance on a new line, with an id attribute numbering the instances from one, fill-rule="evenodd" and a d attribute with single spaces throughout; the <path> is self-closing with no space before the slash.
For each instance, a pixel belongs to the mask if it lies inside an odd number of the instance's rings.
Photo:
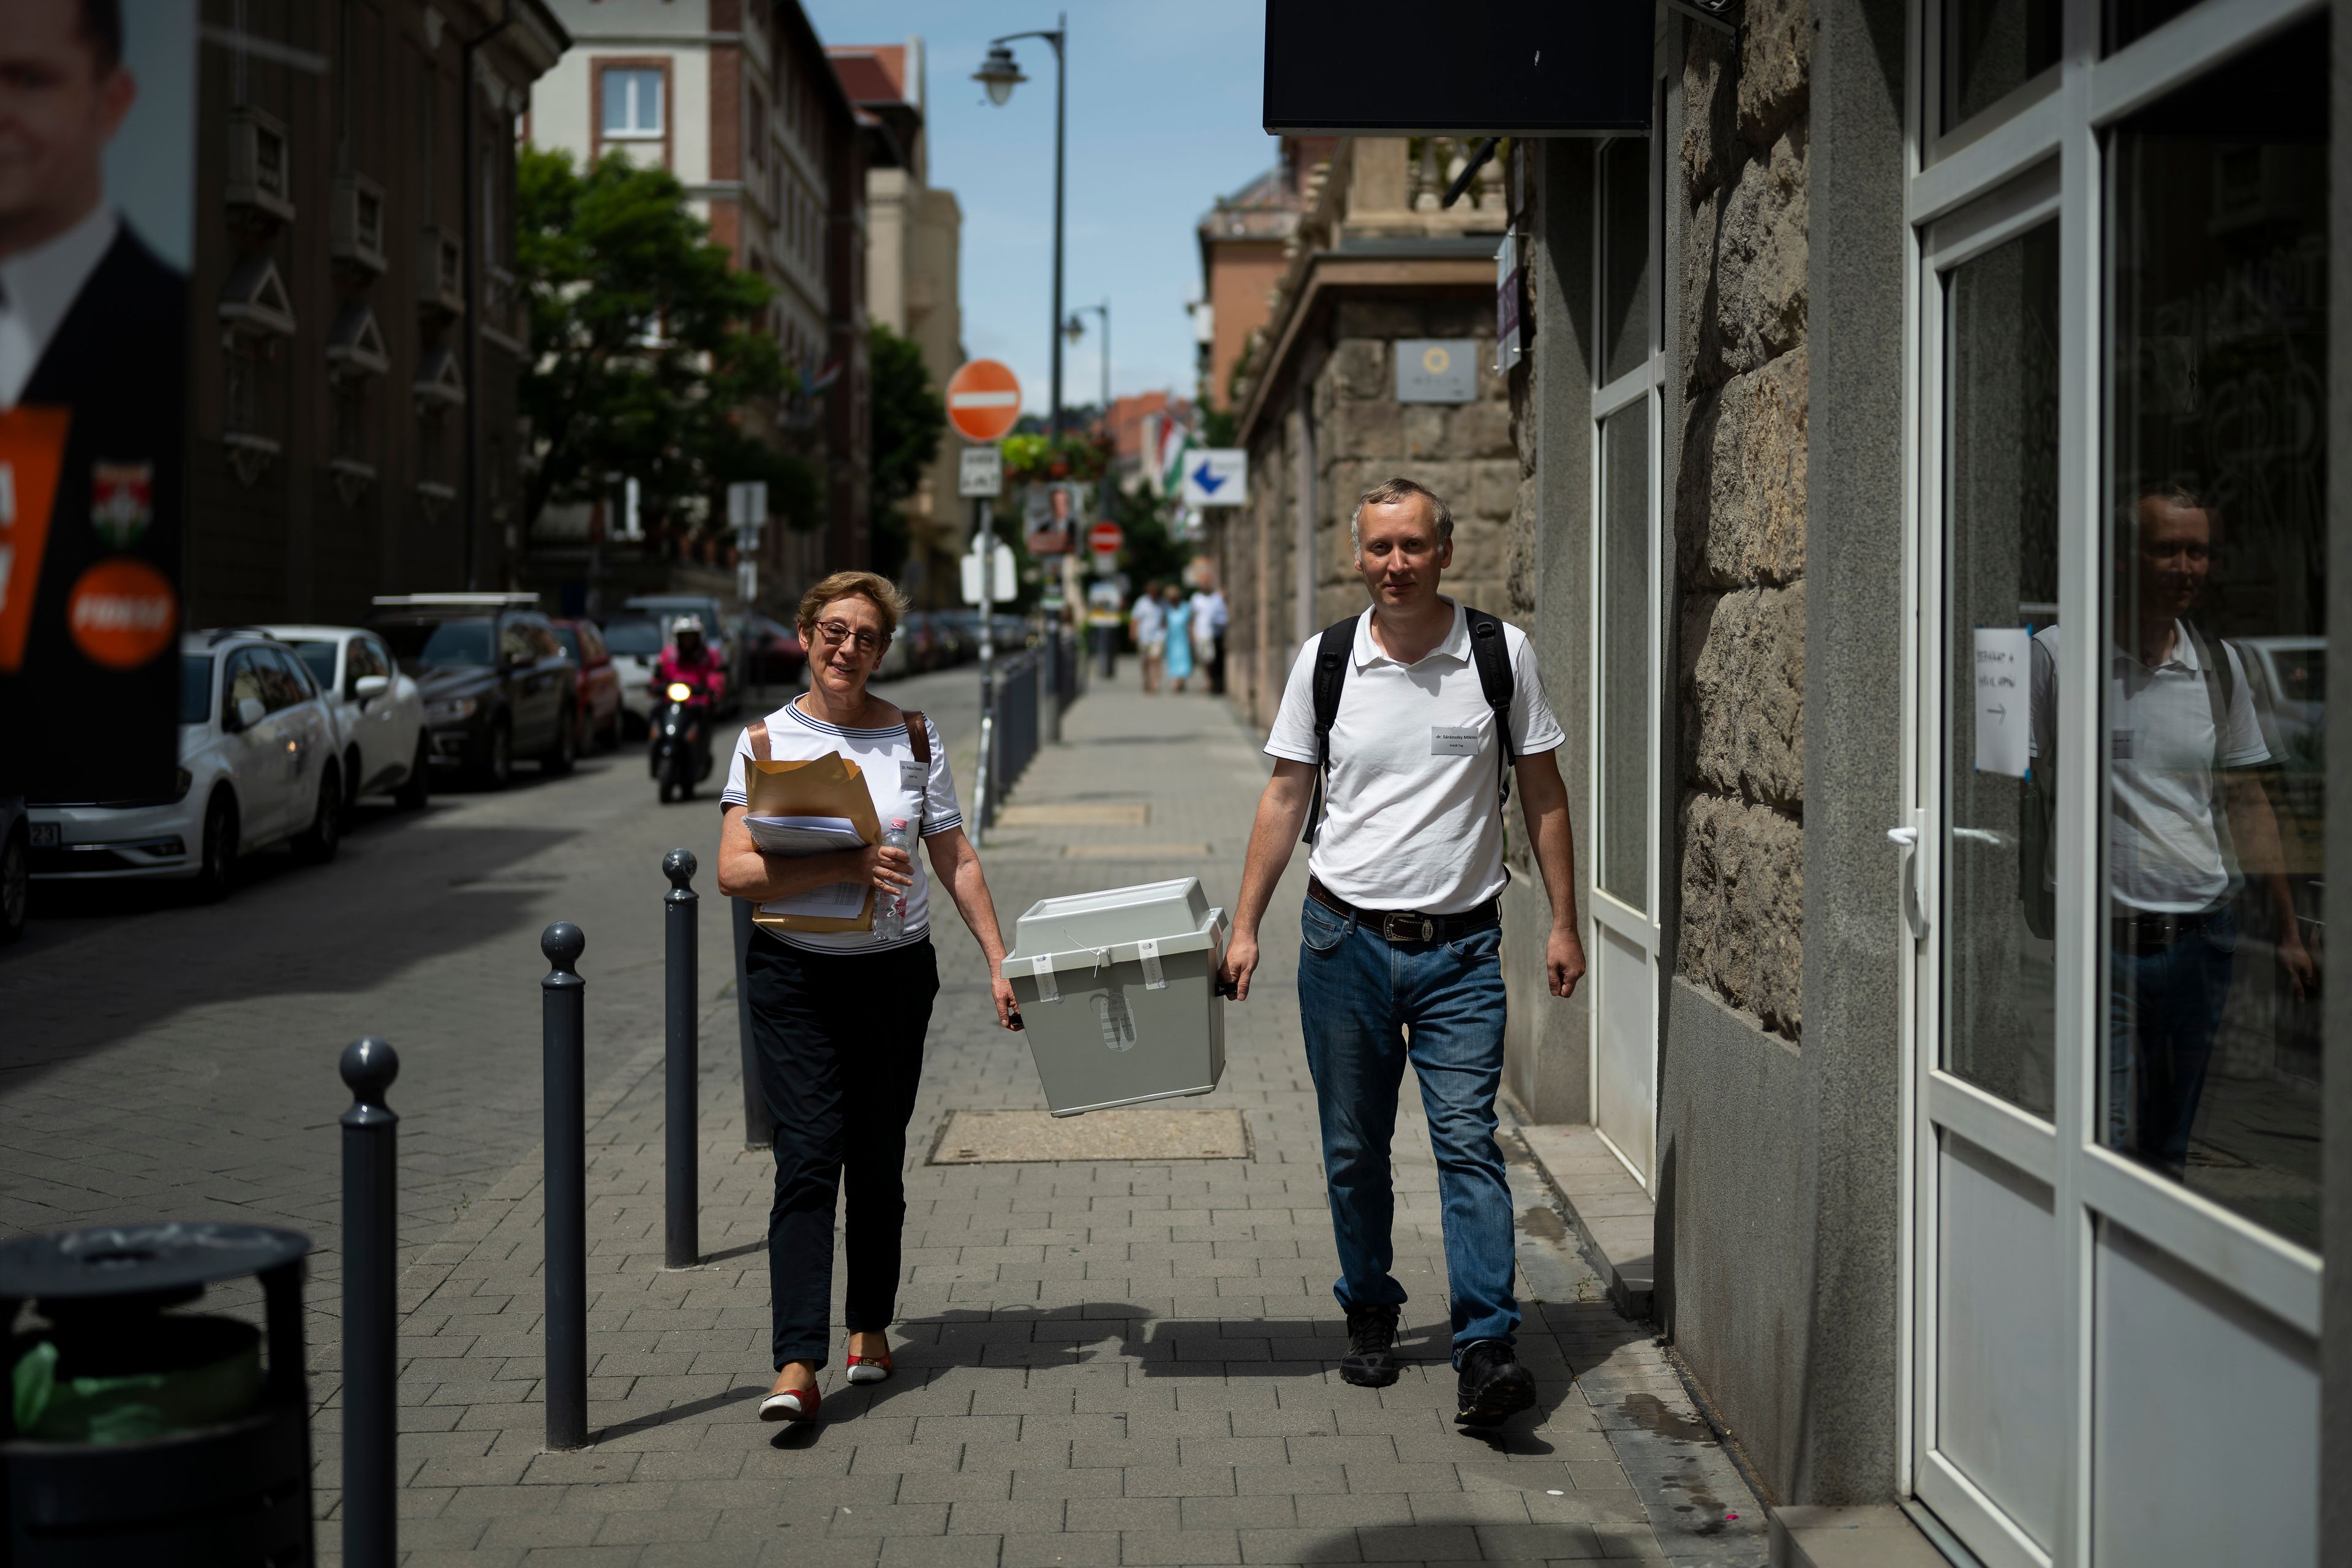
<path id="1" fill-rule="evenodd" d="M 261 632 L 179 642 L 179 778 L 169 799 L 35 802 L 33 879 L 195 879 L 219 898 L 238 856 L 294 842 L 332 860 L 343 837 L 341 736 L 294 649 Z"/>

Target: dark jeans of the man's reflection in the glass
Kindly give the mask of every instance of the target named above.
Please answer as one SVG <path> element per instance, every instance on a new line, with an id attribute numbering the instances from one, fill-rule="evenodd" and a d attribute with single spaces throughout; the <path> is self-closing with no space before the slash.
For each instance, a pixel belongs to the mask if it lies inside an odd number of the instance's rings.
<path id="1" fill-rule="evenodd" d="M 2114 952 L 2107 985 L 2107 1147 L 2180 1171 L 2230 1001 L 2237 910 L 2157 952 Z"/>

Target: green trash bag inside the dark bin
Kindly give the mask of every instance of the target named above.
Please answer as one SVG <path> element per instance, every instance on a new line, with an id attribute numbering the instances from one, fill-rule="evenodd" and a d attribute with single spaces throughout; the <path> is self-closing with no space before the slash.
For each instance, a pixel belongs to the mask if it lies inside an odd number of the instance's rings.
<path id="1" fill-rule="evenodd" d="M 261 1401 L 261 1331 L 221 1316 L 139 1316 L 103 1338 L 16 1335 L 16 1434 L 139 1443 L 235 1420 Z"/>

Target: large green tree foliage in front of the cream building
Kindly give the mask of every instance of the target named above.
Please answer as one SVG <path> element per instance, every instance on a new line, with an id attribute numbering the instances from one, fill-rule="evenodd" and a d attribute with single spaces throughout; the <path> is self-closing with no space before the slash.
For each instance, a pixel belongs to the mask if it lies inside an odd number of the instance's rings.
<path id="1" fill-rule="evenodd" d="M 793 386 L 760 329 L 774 289 L 710 244 L 677 176 L 522 148 L 515 209 L 534 350 L 527 524 L 609 494 L 614 475 L 637 480 L 656 522 L 724 520 L 727 484 L 767 480 L 771 510 L 814 524 L 816 475 L 769 440 Z"/>

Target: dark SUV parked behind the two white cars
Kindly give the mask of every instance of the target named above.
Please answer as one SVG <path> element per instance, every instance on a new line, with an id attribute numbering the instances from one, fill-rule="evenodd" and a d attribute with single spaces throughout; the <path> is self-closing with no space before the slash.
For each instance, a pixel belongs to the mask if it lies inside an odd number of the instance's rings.
<path id="1" fill-rule="evenodd" d="M 412 592 L 376 599 L 369 625 L 416 677 L 433 764 L 503 790 L 515 757 L 569 773 L 579 757 L 579 665 L 534 595 Z"/>

